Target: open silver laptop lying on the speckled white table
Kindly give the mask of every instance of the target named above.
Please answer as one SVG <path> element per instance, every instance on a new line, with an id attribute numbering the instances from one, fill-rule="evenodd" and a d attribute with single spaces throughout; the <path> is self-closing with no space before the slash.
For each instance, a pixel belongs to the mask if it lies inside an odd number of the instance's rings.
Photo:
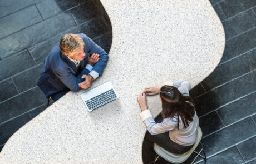
<path id="1" fill-rule="evenodd" d="M 81 97 L 89 112 L 118 98 L 111 82 L 106 82 L 90 91 L 82 93 Z"/>

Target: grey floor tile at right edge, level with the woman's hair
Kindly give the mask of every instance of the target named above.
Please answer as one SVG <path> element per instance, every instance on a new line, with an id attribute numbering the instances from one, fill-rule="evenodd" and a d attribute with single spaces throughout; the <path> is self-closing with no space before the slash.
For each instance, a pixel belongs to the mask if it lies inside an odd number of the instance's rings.
<path id="1" fill-rule="evenodd" d="M 227 106 L 220 108 L 218 111 L 220 118 L 225 125 L 229 125 L 235 121 L 243 119 L 244 117 L 256 113 L 256 92 L 241 98 L 238 101 L 232 102 Z"/>

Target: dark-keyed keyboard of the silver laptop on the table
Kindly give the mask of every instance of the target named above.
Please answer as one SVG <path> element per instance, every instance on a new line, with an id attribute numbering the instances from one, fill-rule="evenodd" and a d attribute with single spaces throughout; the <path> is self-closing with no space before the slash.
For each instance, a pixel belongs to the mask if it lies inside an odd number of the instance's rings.
<path id="1" fill-rule="evenodd" d="M 113 89 L 101 93 L 98 96 L 91 98 L 90 100 L 85 101 L 86 105 L 88 106 L 89 110 L 96 110 L 97 108 L 113 101 L 117 98 Z"/>

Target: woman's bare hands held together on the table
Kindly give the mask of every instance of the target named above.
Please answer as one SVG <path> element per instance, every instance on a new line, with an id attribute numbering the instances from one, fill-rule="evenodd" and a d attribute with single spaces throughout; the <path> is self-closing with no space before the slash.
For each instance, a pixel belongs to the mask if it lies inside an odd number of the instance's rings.
<path id="1" fill-rule="evenodd" d="M 151 86 L 146 87 L 142 93 L 138 96 L 138 102 L 141 108 L 141 111 L 147 110 L 147 95 L 156 95 L 160 93 L 161 87 Z"/>

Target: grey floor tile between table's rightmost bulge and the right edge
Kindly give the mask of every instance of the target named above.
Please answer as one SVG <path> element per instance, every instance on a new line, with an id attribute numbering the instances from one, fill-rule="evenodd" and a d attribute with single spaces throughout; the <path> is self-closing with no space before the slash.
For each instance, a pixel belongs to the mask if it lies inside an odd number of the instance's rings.
<path id="1" fill-rule="evenodd" d="M 234 58 L 239 54 L 250 51 L 256 47 L 256 28 L 234 37 L 226 42 L 223 57 L 220 63 Z"/>

